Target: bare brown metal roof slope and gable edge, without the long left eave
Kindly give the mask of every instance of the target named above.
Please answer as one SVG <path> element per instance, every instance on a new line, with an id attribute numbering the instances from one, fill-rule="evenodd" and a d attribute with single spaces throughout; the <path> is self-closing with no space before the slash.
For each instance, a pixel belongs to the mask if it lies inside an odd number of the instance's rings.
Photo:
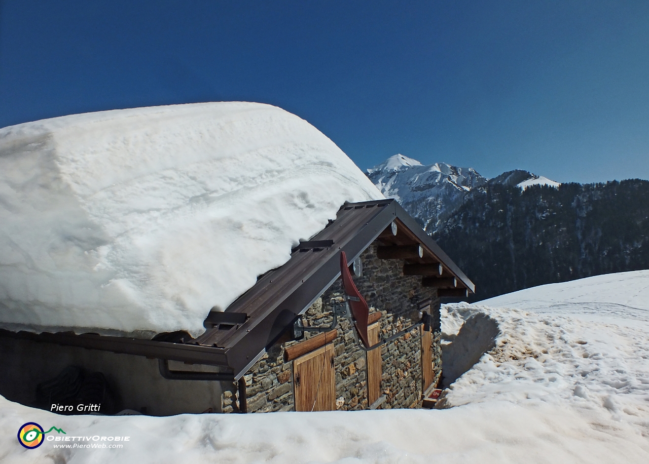
<path id="1" fill-rule="evenodd" d="M 384 233 L 393 221 L 397 222 L 396 236 Z M 458 279 L 458 286 L 475 291 L 469 278 L 398 202 L 390 199 L 347 203 L 339 209 L 336 220 L 311 239 L 332 240 L 330 247 L 317 248 L 319 251 L 296 248 L 286 264 L 263 275 L 226 309 L 227 313 L 246 314 L 245 323 L 228 330 L 210 329 L 191 343 L 223 348 L 237 375 L 247 371 L 265 353 L 265 348 L 339 278 L 339 252 L 345 251 L 352 262 L 377 238 L 385 244 L 420 244 L 423 257 L 408 262 L 441 262 L 445 272 Z"/>

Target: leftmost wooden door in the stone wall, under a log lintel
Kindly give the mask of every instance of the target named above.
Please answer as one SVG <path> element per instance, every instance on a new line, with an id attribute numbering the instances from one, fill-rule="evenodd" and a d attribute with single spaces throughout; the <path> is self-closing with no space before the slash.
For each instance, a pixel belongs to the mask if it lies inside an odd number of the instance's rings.
<path id="1" fill-rule="evenodd" d="M 336 410 L 334 343 L 293 360 L 296 411 Z"/>

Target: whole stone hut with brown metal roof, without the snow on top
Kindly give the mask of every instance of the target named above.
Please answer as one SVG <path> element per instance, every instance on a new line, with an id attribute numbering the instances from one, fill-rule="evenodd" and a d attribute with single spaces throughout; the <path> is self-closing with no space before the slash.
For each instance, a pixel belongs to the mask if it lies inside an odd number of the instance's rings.
<path id="1" fill-rule="evenodd" d="M 347 311 L 341 256 L 366 329 Z M 11 373 L 0 393 L 43 407 L 24 386 L 76 365 L 103 373 L 115 410 L 153 415 L 417 408 L 441 379 L 439 299 L 474 290 L 395 200 L 346 203 L 284 266 L 210 312 L 199 338 L 0 331 Z"/>

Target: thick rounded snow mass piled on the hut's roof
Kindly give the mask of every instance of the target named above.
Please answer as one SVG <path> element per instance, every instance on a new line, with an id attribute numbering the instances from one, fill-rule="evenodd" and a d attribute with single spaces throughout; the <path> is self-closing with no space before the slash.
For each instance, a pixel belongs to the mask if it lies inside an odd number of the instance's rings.
<path id="1" fill-rule="evenodd" d="M 336 217 L 384 198 L 265 104 L 103 111 L 0 130 L 0 327 L 204 331 Z"/>

